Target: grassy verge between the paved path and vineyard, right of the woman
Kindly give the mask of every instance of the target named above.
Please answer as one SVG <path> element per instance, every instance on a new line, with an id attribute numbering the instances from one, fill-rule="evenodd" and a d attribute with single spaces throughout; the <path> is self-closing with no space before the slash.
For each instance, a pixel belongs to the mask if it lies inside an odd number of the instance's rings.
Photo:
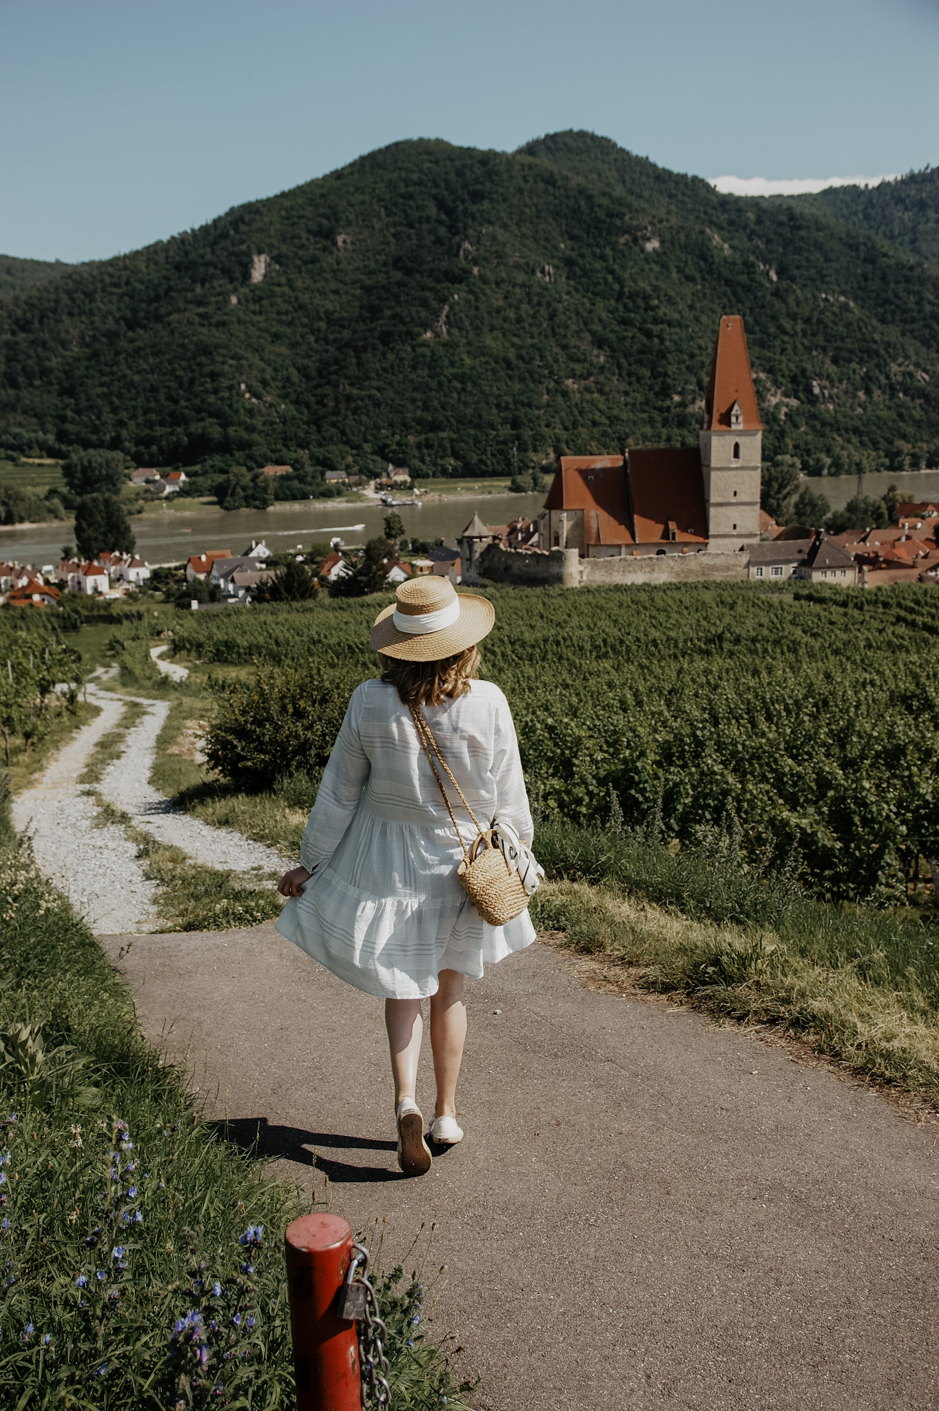
<path id="1" fill-rule="evenodd" d="M 543 930 L 642 967 L 640 986 L 780 1023 L 939 1101 L 939 927 L 911 909 L 819 903 L 795 865 L 747 864 L 732 834 L 673 852 L 654 837 L 548 821 L 536 848 L 553 879 L 532 903 Z"/>

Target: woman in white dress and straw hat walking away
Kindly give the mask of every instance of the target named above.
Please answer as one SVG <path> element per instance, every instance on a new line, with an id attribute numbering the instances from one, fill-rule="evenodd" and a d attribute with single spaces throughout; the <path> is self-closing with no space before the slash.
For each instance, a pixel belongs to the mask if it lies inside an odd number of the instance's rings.
<path id="1" fill-rule="evenodd" d="M 532 814 L 512 714 L 502 691 L 478 680 L 477 643 L 492 631 L 486 598 L 457 594 L 446 579 L 420 577 L 375 621 L 371 645 L 381 680 L 348 703 L 310 813 L 299 868 L 281 880 L 289 900 L 278 930 L 340 979 L 385 1000 L 398 1123 L 398 1164 L 430 1170 L 424 1120 L 415 1101 L 430 996 L 437 1101 L 429 1136 L 462 1139 L 457 1079 L 467 1037 L 464 978 L 530 945 L 527 910 L 489 926 L 464 892 L 464 849 L 434 777 L 429 727 L 444 770 L 484 821 L 496 814 L 529 861 Z M 451 806 L 460 810 L 457 793 Z M 465 827 L 464 827 L 465 820 Z M 472 835 L 462 810 L 460 830 Z"/>

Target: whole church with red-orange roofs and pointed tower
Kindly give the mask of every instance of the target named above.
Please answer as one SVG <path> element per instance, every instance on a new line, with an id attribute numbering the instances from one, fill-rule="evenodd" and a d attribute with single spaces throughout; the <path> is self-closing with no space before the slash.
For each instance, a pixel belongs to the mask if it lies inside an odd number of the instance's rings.
<path id="1" fill-rule="evenodd" d="M 763 423 L 740 315 L 718 327 L 696 447 L 563 456 L 541 549 L 584 559 L 736 552 L 760 538 Z"/>

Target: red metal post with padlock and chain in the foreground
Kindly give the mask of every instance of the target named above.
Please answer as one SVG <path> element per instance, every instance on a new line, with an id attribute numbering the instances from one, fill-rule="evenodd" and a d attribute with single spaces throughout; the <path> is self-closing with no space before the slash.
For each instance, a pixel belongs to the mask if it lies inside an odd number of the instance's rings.
<path id="1" fill-rule="evenodd" d="M 336 1316 L 352 1232 L 340 1215 L 303 1215 L 285 1240 L 297 1411 L 361 1411 L 355 1324 Z"/>

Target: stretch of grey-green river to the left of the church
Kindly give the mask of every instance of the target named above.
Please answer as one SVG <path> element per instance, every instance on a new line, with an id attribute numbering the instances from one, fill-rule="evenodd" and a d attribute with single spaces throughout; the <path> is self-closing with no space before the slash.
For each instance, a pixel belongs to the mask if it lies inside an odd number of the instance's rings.
<path id="1" fill-rule="evenodd" d="M 479 511 L 484 523 L 508 523 L 519 515 L 533 518 L 544 504 L 544 495 L 461 495 L 453 499 L 431 499 L 426 505 L 399 505 L 405 533 L 409 539 L 455 539 Z M 312 499 L 297 504 L 274 505 L 271 509 L 235 509 L 226 514 L 217 505 L 192 501 L 148 509 L 131 518 L 137 539 L 137 553 L 148 563 L 180 563 L 190 555 L 207 549 L 230 549 L 241 553 L 252 539 L 264 539 L 271 550 L 309 549 L 338 535 L 345 543 L 365 543 L 382 533 L 382 522 L 389 511 L 372 504 L 337 504 L 334 499 Z M 0 557 L 17 559 L 41 567 L 58 563 L 63 545 L 72 538 L 70 522 L 54 521 L 28 528 L 3 528 Z"/>

